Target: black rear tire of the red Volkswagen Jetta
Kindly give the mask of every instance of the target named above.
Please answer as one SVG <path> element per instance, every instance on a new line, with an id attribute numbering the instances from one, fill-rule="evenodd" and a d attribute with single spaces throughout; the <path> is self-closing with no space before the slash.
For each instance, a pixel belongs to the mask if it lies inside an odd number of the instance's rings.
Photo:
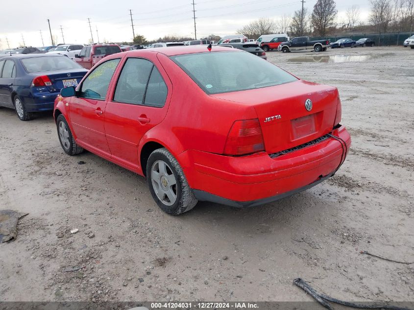
<path id="1" fill-rule="evenodd" d="M 161 172 L 161 168 L 159 166 L 158 172 L 156 171 L 157 165 L 162 164 L 162 162 L 165 164 L 164 167 L 166 175 L 170 177 L 173 176 L 175 178 L 173 180 L 173 182 L 175 182 L 174 185 L 169 184 L 171 180 L 170 178 L 164 177 L 164 179 L 162 179 L 164 174 Z M 153 171 L 155 172 L 154 176 L 152 175 Z M 157 176 L 158 183 L 156 182 Z M 146 180 L 152 198 L 154 198 L 157 205 L 165 213 L 168 213 L 170 215 L 179 215 L 193 209 L 198 202 L 192 189 L 190 188 L 190 185 L 187 182 L 183 169 L 181 168 L 180 164 L 178 164 L 174 156 L 172 156 L 165 147 L 156 149 L 151 153 L 151 155 L 149 155 L 148 162 L 146 163 Z M 154 189 L 154 186 L 158 187 L 158 189 Z M 167 191 L 175 191 L 174 202 L 168 198 L 166 191 L 164 191 L 164 189 L 161 187 L 168 189 Z M 163 200 L 160 199 L 158 195 L 162 196 Z M 164 196 L 168 201 L 164 202 Z M 172 204 L 169 204 L 169 202 Z"/>

